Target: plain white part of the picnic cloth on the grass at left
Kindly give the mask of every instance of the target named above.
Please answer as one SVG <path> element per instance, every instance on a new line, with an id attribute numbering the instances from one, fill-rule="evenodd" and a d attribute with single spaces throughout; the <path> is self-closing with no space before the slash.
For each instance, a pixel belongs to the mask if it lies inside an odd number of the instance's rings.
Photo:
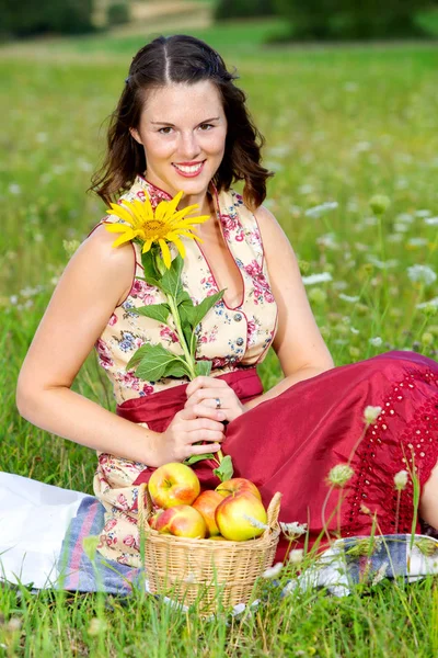
<path id="1" fill-rule="evenodd" d="M 0 473 L 0 580 L 37 589 L 55 582 L 62 540 L 85 496 Z"/>

